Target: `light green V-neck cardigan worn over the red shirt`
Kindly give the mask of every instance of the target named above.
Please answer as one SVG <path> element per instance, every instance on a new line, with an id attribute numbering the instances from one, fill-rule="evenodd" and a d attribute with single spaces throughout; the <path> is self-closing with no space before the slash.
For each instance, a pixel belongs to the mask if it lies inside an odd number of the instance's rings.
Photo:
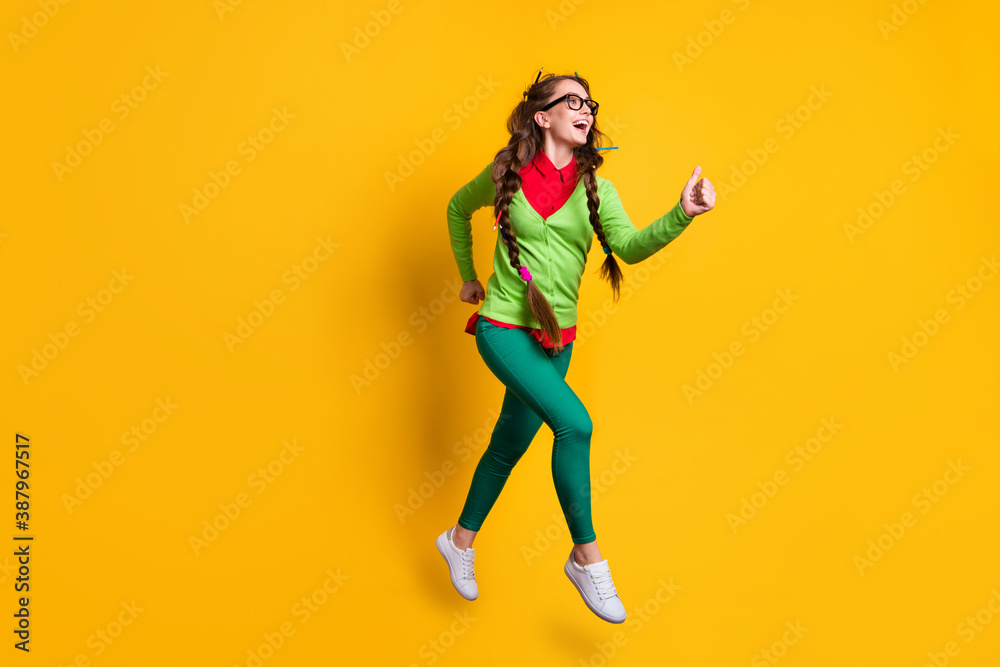
<path id="1" fill-rule="evenodd" d="M 611 251 L 626 264 L 641 262 L 655 254 L 683 232 L 692 218 L 681 208 L 680 200 L 662 217 L 641 230 L 629 220 L 622 208 L 618 191 L 611 181 L 597 176 L 598 213 L 604 236 Z M 463 281 L 476 280 L 472 259 L 472 214 L 484 206 L 493 207 L 496 187 L 493 163 L 462 186 L 448 202 L 448 233 L 451 249 Z M 587 190 L 581 178 L 563 206 L 543 220 L 528 203 L 520 188 L 509 207 L 510 220 L 520 249 L 521 266 L 528 267 L 535 285 L 552 304 L 559 327 L 576 324 L 576 303 L 580 281 L 587 264 L 587 254 L 595 238 L 587 208 Z M 492 229 L 492 225 L 489 227 Z M 510 264 L 507 246 L 496 232 L 493 275 L 486 285 L 486 298 L 480 315 L 509 324 L 539 328 L 525 298 L 527 283 Z M 603 260 L 602 260 L 603 261 Z"/>

